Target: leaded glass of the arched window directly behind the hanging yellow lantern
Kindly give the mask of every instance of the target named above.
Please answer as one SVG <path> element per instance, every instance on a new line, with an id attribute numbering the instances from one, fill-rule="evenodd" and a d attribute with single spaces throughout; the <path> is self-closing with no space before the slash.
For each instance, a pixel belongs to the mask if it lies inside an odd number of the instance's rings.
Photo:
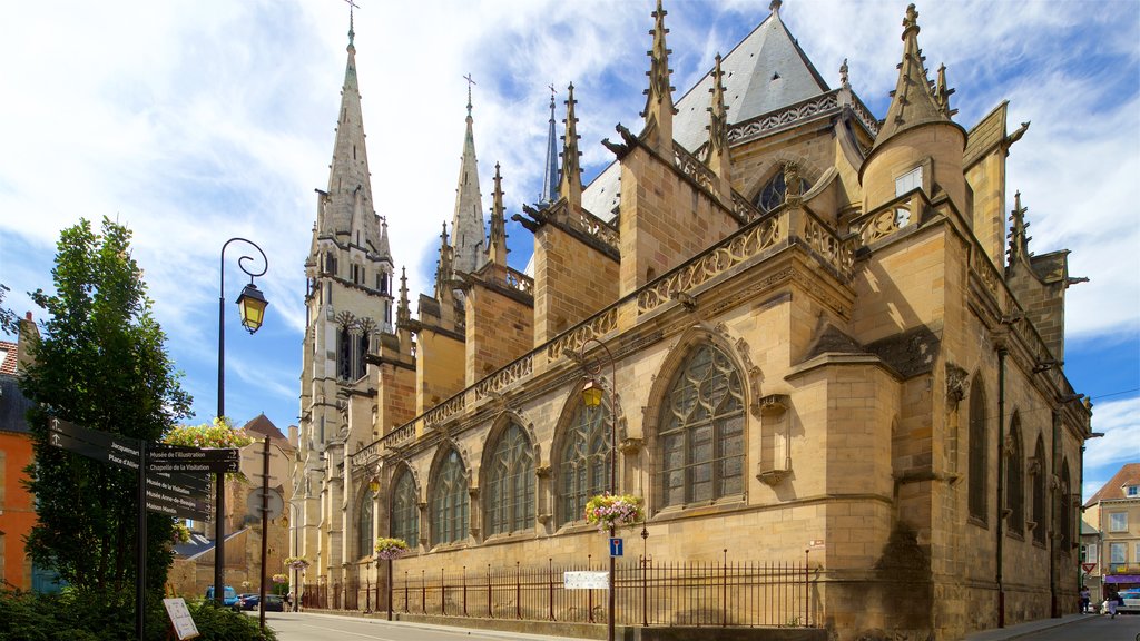
<path id="1" fill-rule="evenodd" d="M 585 518 L 586 502 L 610 487 L 610 408 L 578 400 L 559 453 L 559 522 Z"/>

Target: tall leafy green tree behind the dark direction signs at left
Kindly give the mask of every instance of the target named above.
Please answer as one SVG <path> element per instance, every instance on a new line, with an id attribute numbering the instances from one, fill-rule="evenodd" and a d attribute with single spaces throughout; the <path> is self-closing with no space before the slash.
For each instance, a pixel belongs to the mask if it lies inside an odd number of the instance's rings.
<path id="1" fill-rule="evenodd" d="M 148 441 L 188 415 L 189 396 L 152 316 L 131 233 L 106 218 L 64 229 L 51 270 L 55 292 L 32 300 L 47 317 L 21 381 L 35 462 L 27 469 L 39 522 L 27 537 L 35 562 L 79 589 L 133 591 L 138 476 L 48 445 L 51 416 Z M 161 590 L 172 552 L 170 517 L 147 518 L 147 590 Z"/>

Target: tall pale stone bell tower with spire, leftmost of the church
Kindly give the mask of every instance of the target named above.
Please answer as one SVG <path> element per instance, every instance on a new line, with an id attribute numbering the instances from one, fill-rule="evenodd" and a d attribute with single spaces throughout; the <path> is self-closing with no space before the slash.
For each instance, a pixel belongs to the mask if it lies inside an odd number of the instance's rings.
<path id="1" fill-rule="evenodd" d="M 336 114 L 328 185 L 317 189 L 317 220 L 306 269 L 306 333 L 301 372 L 302 461 L 294 496 L 301 514 L 295 555 L 335 565 L 339 537 L 318 542 L 316 524 L 337 504 L 341 488 L 328 478 L 329 463 L 343 456 L 351 438 L 370 440 L 373 421 L 357 421 L 349 405 L 359 388 L 374 387 L 366 359 L 381 338 L 394 334 L 393 263 L 388 222 L 374 209 L 365 147 L 356 47 L 349 22 L 348 64 Z M 359 424 L 353 424 L 359 423 Z"/>

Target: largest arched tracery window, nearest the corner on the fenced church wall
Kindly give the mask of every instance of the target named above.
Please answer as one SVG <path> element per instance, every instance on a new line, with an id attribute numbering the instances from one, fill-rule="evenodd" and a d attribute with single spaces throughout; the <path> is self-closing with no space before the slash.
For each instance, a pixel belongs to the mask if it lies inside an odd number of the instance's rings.
<path id="1" fill-rule="evenodd" d="M 744 392 L 719 349 L 686 355 L 665 395 L 658 428 L 663 505 L 684 505 L 744 489 Z"/>

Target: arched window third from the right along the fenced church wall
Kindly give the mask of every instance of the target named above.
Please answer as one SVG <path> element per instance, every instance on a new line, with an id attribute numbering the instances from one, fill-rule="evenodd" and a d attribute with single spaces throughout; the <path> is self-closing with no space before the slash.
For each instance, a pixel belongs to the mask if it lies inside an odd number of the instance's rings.
<path id="1" fill-rule="evenodd" d="M 514 423 L 499 436 L 488 461 L 483 501 L 488 535 L 534 528 L 535 452 Z"/>

